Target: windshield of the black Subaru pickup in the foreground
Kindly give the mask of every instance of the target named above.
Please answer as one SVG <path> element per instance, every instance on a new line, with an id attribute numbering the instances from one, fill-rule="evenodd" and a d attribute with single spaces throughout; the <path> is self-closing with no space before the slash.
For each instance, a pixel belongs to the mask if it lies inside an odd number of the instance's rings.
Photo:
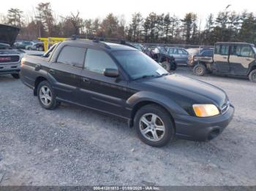
<path id="1" fill-rule="evenodd" d="M 140 51 L 116 51 L 113 56 L 132 79 L 168 74 L 156 61 Z"/>

